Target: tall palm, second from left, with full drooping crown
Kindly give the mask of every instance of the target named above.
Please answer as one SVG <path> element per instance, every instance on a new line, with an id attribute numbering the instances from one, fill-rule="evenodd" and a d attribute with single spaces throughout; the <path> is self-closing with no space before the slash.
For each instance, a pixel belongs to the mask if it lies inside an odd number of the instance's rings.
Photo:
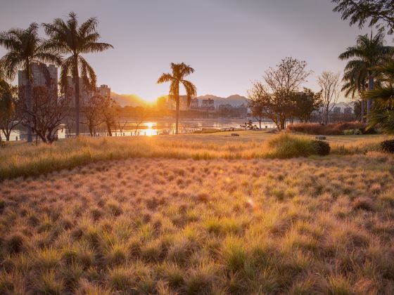
<path id="1" fill-rule="evenodd" d="M 89 18 L 82 25 L 78 25 L 77 15 L 69 13 L 67 21 L 56 18 L 52 23 L 44 23 L 46 34 L 50 39 L 46 42 L 46 48 L 54 49 L 60 53 L 69 55 L 61 66 L 60 85 L 65 93 L 68 88 L 68 75 L 72 76 L 75 83 L 75 121 L 77 135 L 80 134 L 80 74 L 84 85 L 94 89 L 96 86 L 96 74 L 87 60 L 81 54 L 105 51 L 113 48 L 107 43 L 98 42 L 100 34 L 96 28 L 97 18 Z M 94 89 L 95 90 L 95 89 Z"/>

